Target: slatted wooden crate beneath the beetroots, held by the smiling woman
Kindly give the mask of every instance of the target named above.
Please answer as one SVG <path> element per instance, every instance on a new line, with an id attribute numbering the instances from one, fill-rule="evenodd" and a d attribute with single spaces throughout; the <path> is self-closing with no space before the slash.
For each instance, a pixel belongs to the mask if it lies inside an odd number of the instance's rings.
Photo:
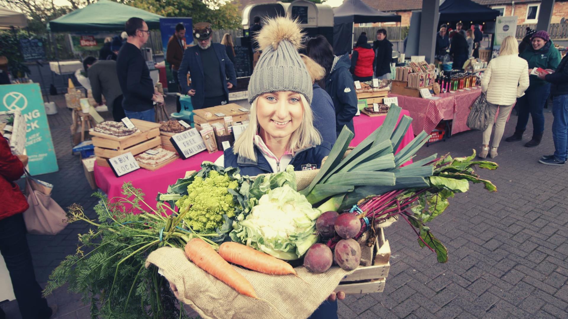
<path id="1" fill-rule="evenodd" d="M 377 236 L 377 244 L 374 247 L 373 266 L 358 267 L 352 274 L 345 276 L 335 288 L 336 292 L 345 293 L 372 293 L 385 290 L 386 278 L 390 270 L 390 245 L 385 239 L 385 232 Z"/>

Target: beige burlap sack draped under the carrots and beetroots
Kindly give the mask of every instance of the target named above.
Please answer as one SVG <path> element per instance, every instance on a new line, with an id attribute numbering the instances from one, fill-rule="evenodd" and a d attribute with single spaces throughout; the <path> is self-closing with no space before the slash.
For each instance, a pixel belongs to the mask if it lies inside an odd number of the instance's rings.
<path id="1" fill-rule="evenodd" d="M 146 261 L 176 285 L 179 301 L 190 305 L 204 319 L 307 318 L 352 271 L 337 266 L 323 274 L 296 267 L 293 275 L 266 275 L 233 266 L 249 280 L 259 299 L 240 295 L 235 289 L 190 262 L 181 249 L 162 247 Z"/>

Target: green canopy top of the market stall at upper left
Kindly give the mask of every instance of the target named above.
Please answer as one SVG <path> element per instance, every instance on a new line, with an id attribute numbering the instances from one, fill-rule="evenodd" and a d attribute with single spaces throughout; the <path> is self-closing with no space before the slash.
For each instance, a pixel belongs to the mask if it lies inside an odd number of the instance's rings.
<path id="1" fill-rule="evenodd" d="M 69 12 L 48 23 L 51 32 L 122 31 L 124 23 L 136 16 L 142 18 L 151 30 L 160 28 L 161 15 L 109 0 L 99 0 L 82 9 Z"/>

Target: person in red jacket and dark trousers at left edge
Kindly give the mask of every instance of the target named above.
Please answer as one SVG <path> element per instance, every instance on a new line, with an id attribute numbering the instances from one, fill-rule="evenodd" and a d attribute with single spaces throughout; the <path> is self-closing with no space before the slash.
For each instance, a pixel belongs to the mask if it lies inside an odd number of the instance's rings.
<path id="1" fill-rule="evenodd" d="M 24 174 L 25 164 L 20 159 L 27 163 L 27 156 L 12 155 L 8 142 L 0 134 L 0 253 L 10 272 L 22 318 L 47 319 L 56 313 L 57 306 L 48 307 L 35 279 L 22 216 L 29 205 L 14 183 Z M 0 319 L 4 318 L 5 313 L 0 308 Z"/>

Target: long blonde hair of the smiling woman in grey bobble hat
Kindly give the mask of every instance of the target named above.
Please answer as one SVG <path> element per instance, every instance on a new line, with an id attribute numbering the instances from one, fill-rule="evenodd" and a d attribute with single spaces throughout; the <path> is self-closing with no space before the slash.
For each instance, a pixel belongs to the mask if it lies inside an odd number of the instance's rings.
<path id="1" fill-rule="evenodd" d="M 256 112 L 258 99 L 261 98 L 261 96 L 258 96 L 252 102 L 249 112 L 249 125 L 235 141 L 235 145 L 233 145 L 233 153 L 253 159 L 254 161 L 257 160 L 256 153 L 254 153 L 254 136 L 260 131 Z M 288 150 L 292 153 L 296 153 L 309 146 L 321 144 L 321 135 L 314 127 L 314 113 L 306 100 L 306 96 L 303 94 L 300 94 L 300 103 L 302 104 L 304 115 L 302 116 L 302 123 L 296 128 L 296 131 L 292 132 L 292 136 L 288 142 Z"/>

